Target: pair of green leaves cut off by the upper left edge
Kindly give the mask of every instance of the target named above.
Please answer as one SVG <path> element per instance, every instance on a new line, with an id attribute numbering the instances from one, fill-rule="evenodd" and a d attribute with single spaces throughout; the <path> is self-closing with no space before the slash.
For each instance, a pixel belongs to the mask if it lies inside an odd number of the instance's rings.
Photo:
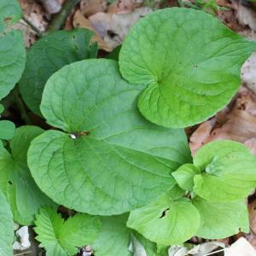
<path id="1" fill-rule="evenodd" d="M 16 0 L 1 0 L 0 3 L 0 100 L 9 94 L 19 81 L 25 67 L 26 51 L 20 31 L 7 30 L 21 17 Z"/>

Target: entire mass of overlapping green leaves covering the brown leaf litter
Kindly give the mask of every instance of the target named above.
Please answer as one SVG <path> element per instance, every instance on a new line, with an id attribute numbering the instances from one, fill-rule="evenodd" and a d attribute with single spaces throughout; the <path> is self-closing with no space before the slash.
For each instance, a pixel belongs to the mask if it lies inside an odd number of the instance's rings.
<path id="1" fill-rule="evenodd" d="M 21 32 L 10 29 L 20 16 L 18 2 L 0 2 L 0 99 L 25 65 Z M 53 32 L 28 50 L 20 92 L 51 129 L 0 121 L 0 256 L 12 255 L 12 218 L 36 224 L 48 256 L 84 246 L 96 256 L 131 256 L 130 242 L 134 256 L 166 256 L 191 236 L 248 232 L 255 157 L 241 143 L 217 141 L 192 163 L 185 132 L 173 128 L 230 101 L 256 43 L 212 15 L 177 8 L 139 21 L 108 55 L 119 65 L 84 60 L 96 57 L 92 35 Z M 65 221 L 52 200 L 78 213 Z"/>

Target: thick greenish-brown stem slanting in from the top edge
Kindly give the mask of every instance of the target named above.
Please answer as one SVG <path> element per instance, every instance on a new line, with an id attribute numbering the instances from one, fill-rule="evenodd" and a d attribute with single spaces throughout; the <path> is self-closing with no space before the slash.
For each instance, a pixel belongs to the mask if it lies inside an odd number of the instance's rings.
<path id="1" fill-rule="evenodd" d="M 61 11 L 56 14 L 54 19 L 51 21 L 47 29 L 47 33 L 59 30 L 67 19 L 67 16 L 79 2 L 80 0 L 66 0 L 61 8 Z"/>

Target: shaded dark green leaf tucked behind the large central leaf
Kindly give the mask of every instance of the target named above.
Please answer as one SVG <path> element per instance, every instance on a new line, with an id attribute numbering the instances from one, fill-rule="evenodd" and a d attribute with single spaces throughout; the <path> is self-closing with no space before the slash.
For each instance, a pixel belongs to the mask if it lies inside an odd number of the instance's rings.
<path id="1" fill-rule="evenodd" d="M 97 46 L 90 44 L 93 34 L 84 28 L 52 32 L 28 50 L 19 84 L 23 100 L 34 113 L 41 115 L 44 85 L 53 73 L 75 61 L 96 57 Z"/>

